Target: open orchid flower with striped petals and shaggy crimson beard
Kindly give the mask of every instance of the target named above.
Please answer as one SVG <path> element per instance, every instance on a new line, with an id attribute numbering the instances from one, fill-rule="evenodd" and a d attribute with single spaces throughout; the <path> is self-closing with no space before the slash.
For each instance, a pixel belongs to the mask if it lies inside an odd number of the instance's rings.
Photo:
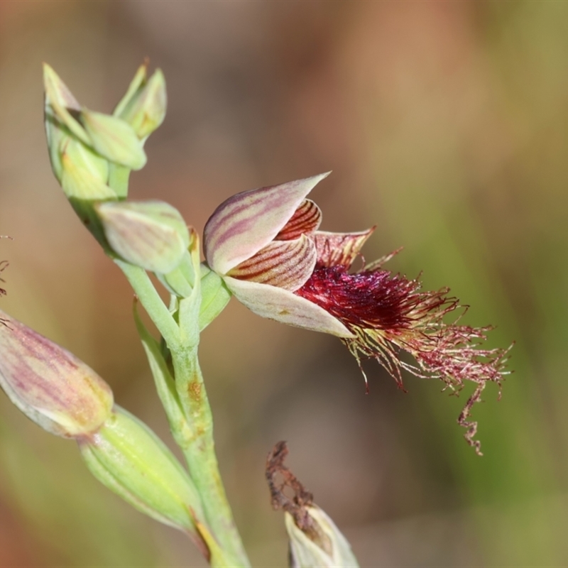
<path id="1" fill-rule="evenodd" d="M 458 422 L 474 440 L 471 407 L 487 381 L 501 385 L 508 349 L 479 349 L 491 327 L 445 316 L 461 307 L 449 289 L 421 290 L 419 280 L 383 269 L 395 253 L 354 269 L 374 231 L 319 231 L 322 212 L 306 199 L 326 174 L 261 187 L 223 202 L 204 229 L 204 253 L 233 295 L 262 317 L 339 337 L 361 368 L 376 359 L 402 388 L 401 370 L 440 378 L 452 391 L 476 388 Z M 415 359 L 401 359 L 403 351 Z M 361 369 L 362 370 L 362 369 Z"/>

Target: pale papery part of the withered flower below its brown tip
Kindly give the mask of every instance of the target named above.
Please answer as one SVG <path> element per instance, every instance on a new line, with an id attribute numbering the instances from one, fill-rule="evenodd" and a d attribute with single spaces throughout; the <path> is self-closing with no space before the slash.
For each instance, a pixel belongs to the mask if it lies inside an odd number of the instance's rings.
<path id="1" fill-rule="evenodd" d="M 284 514 L 290 537 L 291 567 L 359 568 L 349 542 L 332 519 L 317 506 L 307 506 L 305 511 L 314 523 L 310 536 L 297 527 L 290 513 Z"/>

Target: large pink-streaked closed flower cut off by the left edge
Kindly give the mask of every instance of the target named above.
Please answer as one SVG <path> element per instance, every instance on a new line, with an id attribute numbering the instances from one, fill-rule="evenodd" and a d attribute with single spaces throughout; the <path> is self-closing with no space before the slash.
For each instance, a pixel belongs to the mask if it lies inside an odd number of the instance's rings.
<path id="1" fill-rule="evenodd" d="M 97 432 L 112 391 L 69 351 L 0 311 L 0 386 L 44 430 L 81 438 Z"/>

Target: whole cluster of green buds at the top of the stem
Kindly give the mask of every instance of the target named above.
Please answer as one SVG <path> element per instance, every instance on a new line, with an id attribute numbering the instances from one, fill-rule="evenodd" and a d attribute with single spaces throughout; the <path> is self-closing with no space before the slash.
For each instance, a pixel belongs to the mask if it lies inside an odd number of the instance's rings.
<path id="1" fill-rule="evenodd" d="M 144 143 L 165 116 L 162 72 L 148 78 L 141 65 L 111 115 L 82 107 L 49 65 L 43 78 L 51 165 L 75 211 L 111 256 L 170 273 L 190 243 L 180 213 L 158 200 L 124 201 L 129 173 L 146 164 Z"/>

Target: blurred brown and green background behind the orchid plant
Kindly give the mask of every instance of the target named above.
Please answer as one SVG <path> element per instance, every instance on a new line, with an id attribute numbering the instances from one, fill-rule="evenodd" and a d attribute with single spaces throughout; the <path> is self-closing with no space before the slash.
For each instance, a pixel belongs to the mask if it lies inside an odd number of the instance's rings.
<path id="1" fill-rule="evenodd" d="M 169 440 L 131 321 L 132 294 L 50 172 L 42 61 L 111 111 L 145 56 L 169 109 L 131 196 L 199 231 L 229 195 L 334 170 L 326 230 L 378 229 L 370 261 L 449 285 L 516 342 L 502 400 L 405 378 L 332 337 L 233 301 L 202 337 L 229 498 L 254 564 L 285 565 L 266 454 L 289 465 L 364 566 L 568 564 L 566 2 L 1 1 L 1 307 L 94 367 Z M 464 393 L 465 394 L 465 393 Z M 1 567 L 203 566 L 190 542 L 99 486 L 72 442 L 0 396 Z"/>

